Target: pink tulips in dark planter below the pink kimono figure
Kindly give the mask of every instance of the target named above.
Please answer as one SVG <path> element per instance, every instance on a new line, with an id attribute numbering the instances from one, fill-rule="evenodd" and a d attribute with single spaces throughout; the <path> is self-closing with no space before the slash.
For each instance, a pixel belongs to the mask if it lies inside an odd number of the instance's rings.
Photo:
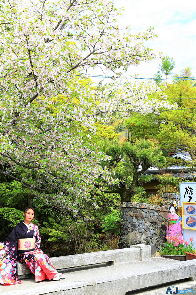
<path id="1" fill-rule="evenodd" d="M 185 261 L 186 260 L 186 254 L 185 254 L 185 246 L 184 241 L 180 241 L 177 239 L 177 237 L 168 237 L 166 236 L 166 243 L 165 248 L 160 248 L 159 252 L 161 254 L 161 257 Z M 177 246 L 175 246 L 175 243 L 179 242 Z"/>

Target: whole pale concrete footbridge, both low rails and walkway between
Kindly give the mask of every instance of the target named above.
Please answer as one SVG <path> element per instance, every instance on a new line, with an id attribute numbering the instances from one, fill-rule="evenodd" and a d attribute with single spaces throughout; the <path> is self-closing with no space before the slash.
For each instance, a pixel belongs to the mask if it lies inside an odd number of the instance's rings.
<path id="1" fill-rule="evenodd" d="M 196 260 L 151 258 L 150 248 L 150 245 L 134 245 L 126 249 L 51 258 L 53 265 L 63 270 L 64 280 L 35 283 L 34 278 L 22 279 L 23 284 L 0 286 L 0 294 L 126 295 L 163 283 L 173 286 L 178 280 L 196 280 Z M 20 275 L 28 272 L 26 266 L 19 264 Z"/>

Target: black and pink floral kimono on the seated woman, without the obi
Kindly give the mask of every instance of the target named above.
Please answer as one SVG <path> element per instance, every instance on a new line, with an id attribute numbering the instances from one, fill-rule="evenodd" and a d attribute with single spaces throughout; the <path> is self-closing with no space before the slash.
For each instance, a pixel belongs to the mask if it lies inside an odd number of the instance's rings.
<path id="1" fill-rule="evenodd" d="M 0 272 L 1 284 L 18 283 L 17 261 L 16 261 L 16 241 L 18 241 L 19 239 L 33 238 L 33 237 L 35 237 L 35 249 L 25 250 L 25 252 L 22 250 L 18 250 L 17 252 L 18 262 L 26 264 L 26 266 L 29 267 L 30 271 L 35 275 L 36 282 L 43 281 L 45 279 L 51 280 L 57 274 L 57 271 L 52 266 L 48 256 L 45 255 L 43 251 L 41 251 L 40 249 L 41 237 L 39 235 L 39 230 L 37 225 L 30 223 L 29 227 L 27 227 L 24 224 L 24 222 L 21 222 L 20 224 L 16 225 L 16 227 L 14 227 L 11 234 L 7 237 L 8 242 L 2 242 L 4 248 L 8 247 L 9 249 L 11 249 L 11 254 L 10 254 L 10 250 L 5 248 L 5 252 L 7 254 L 4 257 L 7 257 L 6 259 L 8 260 L 7 262 L 8 262 L 9 268 L 7 268 L 7 266 L 5 267 L 5 263 L 2 263 L 2 266 L 0 266 L 0 271 L 1 269 L 3 269 L 2 276 Z M 29 248 L 31 248 L 30 245 L 29 245 Z M 2 262 L 4 262 L 4 257 L 3 259 L 1 259 L 0 257 Z M 11 268 L 11 265 L 12 265 L 12 268 Z M 6 276 L 4 273 L 6 273 Z"/>

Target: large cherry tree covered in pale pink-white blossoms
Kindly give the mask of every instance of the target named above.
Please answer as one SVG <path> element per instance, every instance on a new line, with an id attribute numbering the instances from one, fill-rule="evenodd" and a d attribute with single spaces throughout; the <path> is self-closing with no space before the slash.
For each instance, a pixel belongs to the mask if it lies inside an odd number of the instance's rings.
<path id="1" fill-rule="evenodd" d="M 151 83 L 122 78 L 99 91 L 78 81 L 89 68 L 120 76 L 155 58 L 143 44 L 155 37 L 153 29 L 120 30 L 121 12 L 108 0 L 1 1 L 0 173 L 46 202 L 63 200 L 73 209 L 89 201 L 98 177 L 118 183 L 100 165 L 109 157 L 91 141 L 94 122 L 105 124 L 114 112 L 175 107 L 157 100 L 165 96 Z M 87 142 L 81 126 L 89 130 Z"/>

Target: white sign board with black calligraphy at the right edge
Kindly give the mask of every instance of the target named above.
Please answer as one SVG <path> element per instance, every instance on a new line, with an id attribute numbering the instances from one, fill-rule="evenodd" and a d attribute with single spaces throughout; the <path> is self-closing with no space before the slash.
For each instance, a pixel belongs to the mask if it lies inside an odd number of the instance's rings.
<path id="1" fill-rule="evenodd" d="M 180 206 L 182 207 L 182 202 L 188 202 L 188 203 L 193 203 L 191 204 L 192 207 L 195 207 L 194 203 L 196 204 L 196 182 L 182 182 L 180 183 Z M 186 224 L 186 219 L 188 218 L 188 216 L 190 216 L 191 218 L 192 215 L 192 211 L 190 211 L 191 214 L 189 214 L 189 210 L 187 211 L 186 209 L 188 208 L 188 204 L 184 204 L 184 214 L 187 216 L 182 216 L 182 219 L 184 218 L 184 227 L 188 227 Z M 195 207 L 196 209 L 196 207 Z M 183 211 L 183 210 L 182 210 Z M 186 224 L 186 225 L 185 225 Z M 183 239 L 185 240 L 185 242 L 189 242 L 190 243 L 190 238 L 193 238 L 193 244 L 194 244 L 194 248 L 196 248 L 196 230 L 195 226 L 194 227 L 190 227 L 190 229 L 187 228 L 183 228 L 183 232 L 182 232 L 182 236 Z"/>

